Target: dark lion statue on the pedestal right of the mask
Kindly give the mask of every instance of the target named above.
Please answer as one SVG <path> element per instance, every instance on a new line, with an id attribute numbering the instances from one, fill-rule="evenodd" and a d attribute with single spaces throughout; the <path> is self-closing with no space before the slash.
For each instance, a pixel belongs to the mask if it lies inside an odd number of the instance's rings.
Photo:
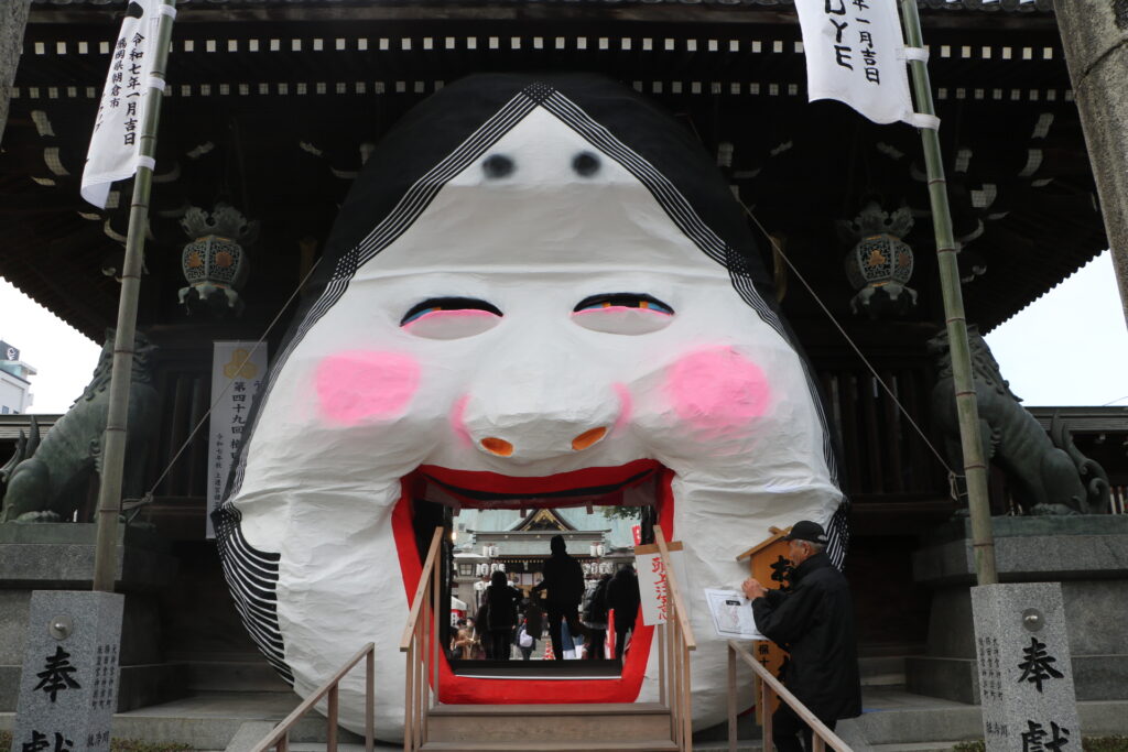
<path id="1" fill-rule="evenodd" d="M 976 327 L 968 327 L 971 369 L 979 404 L 984 453 L 1007 475 L 1015 499 L 1026 514 L 1094 514 L 1109 502 L 1109 481 L 1095 461 L 1084 457 L 1057 416 L 1051 434 L 1011 391 L 998 363 Z M 932 392 L 932 415 L 944 436 L 952 467 L 963 466 L 959 418 L 948 333 L 928 340 L 937 381 Z"/>

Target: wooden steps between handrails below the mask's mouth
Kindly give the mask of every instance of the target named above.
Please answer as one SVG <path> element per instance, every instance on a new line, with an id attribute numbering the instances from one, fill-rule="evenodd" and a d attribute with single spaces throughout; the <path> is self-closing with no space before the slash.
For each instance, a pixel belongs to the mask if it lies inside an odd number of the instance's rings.
<path id="1" fill-rule="evenodd" d="M 656 702 L 440 705 L 424 752 L 677 752 Z"/>

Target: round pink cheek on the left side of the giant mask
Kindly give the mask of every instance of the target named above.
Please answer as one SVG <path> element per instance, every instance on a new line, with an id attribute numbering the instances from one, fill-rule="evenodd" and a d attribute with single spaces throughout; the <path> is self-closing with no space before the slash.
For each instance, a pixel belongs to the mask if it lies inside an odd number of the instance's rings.
<path id="1" fill-rule="evenodd" d="M 418 388 L 420 366 L 402 353 L 352 351 L 323 360 L 315 382 L 321 413 L 355 425 L 399 415 Z"/>

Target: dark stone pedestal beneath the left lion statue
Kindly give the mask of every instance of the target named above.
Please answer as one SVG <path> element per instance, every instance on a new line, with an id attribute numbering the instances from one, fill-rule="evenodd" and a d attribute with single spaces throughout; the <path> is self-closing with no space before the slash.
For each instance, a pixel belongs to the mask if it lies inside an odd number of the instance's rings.
<path id="1" fill-rule="evenodd" d="M 89 590 L 94 541 L 94 524 L 0 524 L 0 711 L 16 709 L 32 591 Z M 125 604 L 115 710 L 124 711 L 183 696 L 184 681 L 162 655 L 157 598 L 176 559 L 156 533 L 124 525 L 117 550 L 115 589 Z"/>

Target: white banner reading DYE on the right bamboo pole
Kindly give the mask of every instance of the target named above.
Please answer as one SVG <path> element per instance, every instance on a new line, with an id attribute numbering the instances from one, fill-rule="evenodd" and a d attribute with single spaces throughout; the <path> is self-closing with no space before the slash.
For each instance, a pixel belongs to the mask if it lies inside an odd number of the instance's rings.
<path id="1" fill-rule="evenodd" d="M 795 0 L 808 99 L 838 99 L 874 123 L 914 116 L 897 0 Z"/>

